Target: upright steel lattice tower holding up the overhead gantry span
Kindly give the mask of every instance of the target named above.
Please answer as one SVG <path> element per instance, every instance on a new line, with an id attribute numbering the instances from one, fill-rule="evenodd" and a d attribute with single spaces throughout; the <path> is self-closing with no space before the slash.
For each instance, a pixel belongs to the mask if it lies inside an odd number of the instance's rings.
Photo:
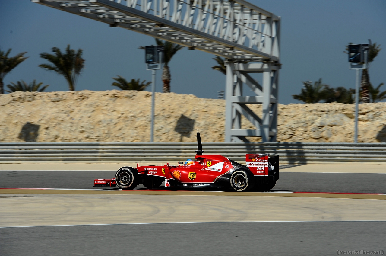
<path id="1" fill-rule="evenodd" d="M 227 61 L 226 67 L 225 142 L 248 142 L 246 137 L 262 137 L 263 142 L 276 141 L 279 65 Z M 262 85 L 249 73 L 262 73 Z M 243 84 L 257 96 L 243 96 Z M 247 106 L 249 104 L 262 104 L 262 118 Z M 256 129 L 242 129 L 242 115 Z"/>

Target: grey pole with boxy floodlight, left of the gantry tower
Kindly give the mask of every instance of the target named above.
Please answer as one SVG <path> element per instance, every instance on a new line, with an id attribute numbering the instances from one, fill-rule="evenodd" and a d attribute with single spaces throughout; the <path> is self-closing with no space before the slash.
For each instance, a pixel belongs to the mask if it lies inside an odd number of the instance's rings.
<path id="1" fill-rule="evenodd" d="M 154 104 L 156 99 L 156 70 L 162 68 L 164 46 L 145 46 L 146 70 L 151 70 L 150 142 L 154 142 Z"/>

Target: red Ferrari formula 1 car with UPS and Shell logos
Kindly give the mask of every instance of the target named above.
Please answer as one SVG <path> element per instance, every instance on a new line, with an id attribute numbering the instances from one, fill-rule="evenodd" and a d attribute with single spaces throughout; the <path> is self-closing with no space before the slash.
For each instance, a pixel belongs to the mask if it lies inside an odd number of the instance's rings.
<path id="1" fill-rule="evenodd" d="M 279 156 L 246 154 L 246 166 L 222 155 L 203 155 L 200 133 L 197 133 L 195 160 L 180 162 L 178 166 L 122 167 L 114 179 L 95 179 L 94 186 L 118 186 L 134 189 L 143 184 L 158 188 L 163 181 L 171 189 L 224 189 L 233 191 L 268 191 L 279 179 Z"/>

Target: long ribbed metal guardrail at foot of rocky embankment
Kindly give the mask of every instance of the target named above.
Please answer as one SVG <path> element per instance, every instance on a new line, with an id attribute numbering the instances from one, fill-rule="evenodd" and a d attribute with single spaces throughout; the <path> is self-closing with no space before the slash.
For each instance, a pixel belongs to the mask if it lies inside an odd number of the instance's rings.
<path id="1" fill-rule="evenodd" d="M 178 162 L 196 143 L 0 143 L 1 162 Z M 281 162 L 386 162 L 386 143 L 203 143 L 204 154 L 244 161 L 245 154 L 279 155 Z"/>

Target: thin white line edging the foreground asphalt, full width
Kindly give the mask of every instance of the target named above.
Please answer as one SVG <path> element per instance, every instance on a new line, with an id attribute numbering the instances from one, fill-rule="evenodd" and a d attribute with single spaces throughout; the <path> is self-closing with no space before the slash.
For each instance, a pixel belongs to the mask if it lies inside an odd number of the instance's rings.
<path id="1" fill-rule="evenodd" d="M 144 222 L 144 223 L 110 223 L 110 224 L 69 224 L 69 225 L 32 225 L 32 226 L 9 226 L 0 227 L 76 227 L 76 226 L 106 226 L 106 225 L 144 225 L 144 224 L 216 224 L 216 223 L 279 223 L 279 222 L 386 222 L 386 220 L 256 220 L 256 221 L 208 221 L 208 222 Z"/>

